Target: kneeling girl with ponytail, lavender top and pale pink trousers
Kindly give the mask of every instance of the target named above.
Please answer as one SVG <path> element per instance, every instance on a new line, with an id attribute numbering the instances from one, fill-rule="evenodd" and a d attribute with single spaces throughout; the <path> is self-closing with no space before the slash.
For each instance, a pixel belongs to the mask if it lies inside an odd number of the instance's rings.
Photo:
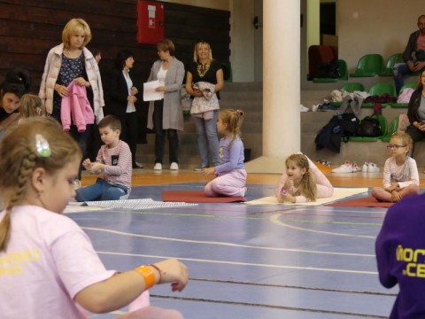
<path id="1" fill-rule="evenodd" d="M 204 175 L 216 175 L 205 185 L 206 196 L 245 196 L 246 171 L 243 164 L 243 142 L 239 137 L 242 122 L 241 110 L 221 110 L 219 113 L 217 131 L 224 135 L 219 145 L 220 164 L 202 170 Z"/>

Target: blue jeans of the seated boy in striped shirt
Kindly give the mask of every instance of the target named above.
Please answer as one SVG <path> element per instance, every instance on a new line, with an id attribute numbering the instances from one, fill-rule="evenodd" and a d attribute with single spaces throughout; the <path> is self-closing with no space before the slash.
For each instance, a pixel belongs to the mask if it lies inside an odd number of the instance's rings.
<path id="1" fill-rule="evenodd" d="M 119 200 L 127 195 L 128 190 L 124 186 L 112 185 L 103 178 L 97 178 L 96 183 L 82 187 L 76 191 L 75 199 L 79 202 L 93 200 Z"/>

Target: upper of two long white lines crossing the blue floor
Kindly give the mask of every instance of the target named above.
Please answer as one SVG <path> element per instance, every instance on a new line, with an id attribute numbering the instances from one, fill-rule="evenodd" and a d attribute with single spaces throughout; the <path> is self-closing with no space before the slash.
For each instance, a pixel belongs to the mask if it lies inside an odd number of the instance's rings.
<path id="1" fill-rule="evenodd" d="M 333 253 L 333 252 L 321 252 L 321 251 L 310 251 L 310 250 L 302 250 L 295 248 L 279 248 L 279 247 L 268 247 L 268 246 L 255 246 L 255 245 L 242 245 L 242 244 L 233 244 L 226 242 L 216 242 L 216 241 L 202 241 L 202 240 L 190 240 L 190 239 L 177 239 L 171 237 L 158 237 L 158 236 L 149 236 L 149 235 L 141 235 L 128 233 L 119 230 L 106 230 L 101 228 L 94 227 L 81 227 L 83 230 L 94 230 L 94 231 L 102 231 L 116 235 L 130 236 L 130 237 L 142 237 L 142 238 L 150 238 L 150 239 L 158 239 L 158 240 L 169 240 L 174 242 L 181 243 L 191 243 L 191 244 L 203 244 L 203 245 L 222 245 L 228 247 L 239 247 L 239 248 L 252 248 L 252 249 L 263 249 L 263 250 L 271 250 L 271 251 L 279 251 L 279 252 L 291 252 L 291 253 L 321 253 L 321 254 L 330 254 L 330 255 L 341 255 L 341 256 L 356 256 L 356 257 L 373 257 L 375 258 L 375 254 L 367 254 L 367 253 Z"/>

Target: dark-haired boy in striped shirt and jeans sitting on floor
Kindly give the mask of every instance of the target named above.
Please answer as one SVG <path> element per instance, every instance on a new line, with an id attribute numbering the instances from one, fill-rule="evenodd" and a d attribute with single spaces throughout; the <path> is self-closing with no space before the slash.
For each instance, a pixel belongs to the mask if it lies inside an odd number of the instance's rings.
<path id="1" fill-rule="evenodd" d="M 113 115 L 105 116 L 99 124 L 104 145 L 97 153 L 96 162 L 84 159 L 82 166 L 90 174 L 104 174 L 95 184 L 77 190 L 75 199 L 81 201 L 126 199 L 131 191 L 132 161 L 128 144 L 120 140 L 121 122 Z"/>

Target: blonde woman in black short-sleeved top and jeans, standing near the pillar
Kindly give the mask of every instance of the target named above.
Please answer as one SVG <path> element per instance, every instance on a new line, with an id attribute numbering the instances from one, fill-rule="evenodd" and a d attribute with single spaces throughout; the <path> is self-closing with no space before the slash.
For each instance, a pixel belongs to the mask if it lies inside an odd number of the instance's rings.
<path id="1" fill-rule="evenodd" d="M 186 90 L 194 98 L 191 114 L 197 128 L 201 158 L 200 165 L 195 168 L 197 171 L 209 167 L 210 157 L 213 167 L 220 164 L 216 123 L 220 109 L 219 91 L 223 89 L 223 85 L 223 69 L 220 62 L 213 59 L 210 44 L 204 41 L 196 43 L 193 62 L 186 73 Z"/>

